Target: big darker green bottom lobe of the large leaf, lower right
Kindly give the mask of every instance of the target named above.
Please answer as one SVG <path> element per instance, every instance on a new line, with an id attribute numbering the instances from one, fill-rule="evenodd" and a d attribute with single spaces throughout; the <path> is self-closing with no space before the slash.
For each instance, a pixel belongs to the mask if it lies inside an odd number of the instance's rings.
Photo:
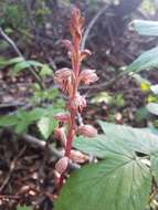
<path id="1" fill-rule="evenodd" d="M 144 210 L 150 192 L 149 168 L 138 157 L 107 157 L 74 172 L 54 210 Z"/>

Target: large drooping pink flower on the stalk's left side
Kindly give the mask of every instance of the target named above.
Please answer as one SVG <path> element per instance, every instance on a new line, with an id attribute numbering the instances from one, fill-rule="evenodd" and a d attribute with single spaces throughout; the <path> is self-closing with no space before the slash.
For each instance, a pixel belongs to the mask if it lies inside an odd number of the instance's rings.
<path id="1" fill-rule="evenodd" d="M 72 81 L 74 73 L 72 70 L 64 67 L 55 72 L 54 80 L 60 85 L 61 90 L 65 93 L 72 94 L 73 85 Z"/>

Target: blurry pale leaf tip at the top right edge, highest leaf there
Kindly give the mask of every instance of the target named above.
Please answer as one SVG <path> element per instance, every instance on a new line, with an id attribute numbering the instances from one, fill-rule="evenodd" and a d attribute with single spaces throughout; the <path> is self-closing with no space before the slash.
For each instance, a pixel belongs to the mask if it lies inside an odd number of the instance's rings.
<path id="1" fill-rule="evenodd" d="M 158 21 L 134 20 L 133 25 L 140 35 L 158 36 Z"/>

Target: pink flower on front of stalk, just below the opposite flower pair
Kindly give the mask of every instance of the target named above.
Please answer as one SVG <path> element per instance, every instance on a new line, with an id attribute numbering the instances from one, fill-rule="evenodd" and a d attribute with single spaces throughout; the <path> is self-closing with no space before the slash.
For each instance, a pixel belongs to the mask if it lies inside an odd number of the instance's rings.
<path id="1" fill-rule="evenodd" d="M 82 113 L 83 108 L 86 107 L 86 99 L 84 96 L 76 94 L 73 101 L 71 101 L 71 108 Z"/>

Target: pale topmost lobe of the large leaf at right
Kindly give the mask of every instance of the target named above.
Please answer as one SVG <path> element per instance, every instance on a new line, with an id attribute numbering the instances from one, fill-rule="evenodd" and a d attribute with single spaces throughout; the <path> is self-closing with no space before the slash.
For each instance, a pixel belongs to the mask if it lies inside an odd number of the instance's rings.
<path id="1" fill-rule="evenodd" d="M 102 120 L 98 123 L 105 134 L 104 139 L 109 143 L 122 143 L 125 144 L 129 150 L 139 151 L 146 155 L 158 151 L 158 136 L 149 128 L 134 128 Z"/>

